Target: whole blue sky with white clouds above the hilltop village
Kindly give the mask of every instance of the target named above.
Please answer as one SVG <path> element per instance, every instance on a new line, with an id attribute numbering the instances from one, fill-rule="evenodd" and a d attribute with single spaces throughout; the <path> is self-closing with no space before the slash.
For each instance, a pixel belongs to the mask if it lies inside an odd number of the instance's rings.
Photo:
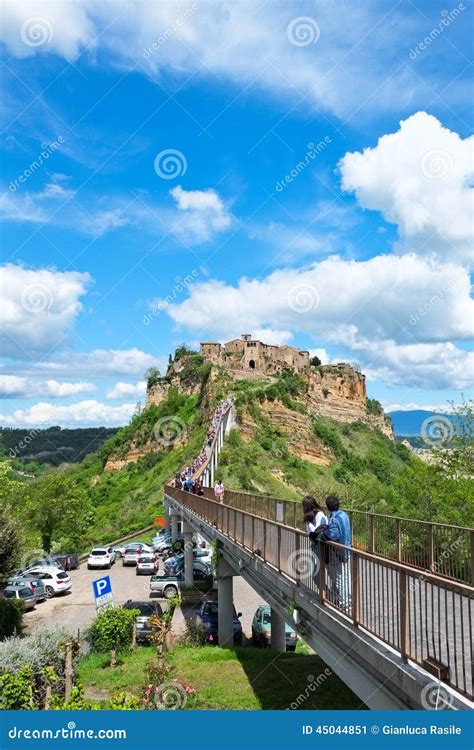
<path id="1" fill-rule="evenodd" d="M 122 424 L 182 342 L 473 381 L 472 6 L 4 0 L 0 424 Z"/>

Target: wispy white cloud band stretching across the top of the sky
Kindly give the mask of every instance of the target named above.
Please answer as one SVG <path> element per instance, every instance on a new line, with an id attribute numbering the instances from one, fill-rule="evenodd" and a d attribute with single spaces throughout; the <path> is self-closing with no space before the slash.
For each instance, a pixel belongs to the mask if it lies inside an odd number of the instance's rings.
<path id="1" fill-rule="evenodd" d="M 163 71 L 210 76 L 214 86 L 221 80 L 239 91 L 255 88 L 298 101 L 305 96 L 308 103 L 348 116 L 354 110 L 409 106 L 414 98 L 429 102 L 432 89 L 443 90 L 443 82 L 451 83 L 451 103 L 457 93 L 452 76 L 439 66 L 435 80 L 429 70 L 421 80 L 408 64 L 400 65 L 403 51 L 408 62 L 410 47 L 440 20 L 437 12 L 428 20 L 405 6 L 385 12 L 373 2 L 352 4 L 350 24 L 347 4 L 327 0 L 260 5 L 4 0 L 3 9 L 2 38 L 18 57 L 51 52 L 73 60 L 86 45 L 93 50 L 97 45 L 102 60 L 154 79 Z M 21 24 L 38 16 L 51 33 L 46 44 L 29 46 L 21 40 Z M 301 16 L 310 17 L 312 34 L 304 47 L 288 38 L 288 25 Z M 441 40 L 437 45 L 443 48 Z"/>

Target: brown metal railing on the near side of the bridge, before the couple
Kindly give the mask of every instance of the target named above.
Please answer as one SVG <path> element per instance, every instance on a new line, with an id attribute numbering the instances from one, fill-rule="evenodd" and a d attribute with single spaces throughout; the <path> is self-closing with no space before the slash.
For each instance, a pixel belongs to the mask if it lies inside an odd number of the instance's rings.
<path id="1" fill-rule="evenodd" d="M 302 530 L 257 515 L 250 507 L 232 506 L 228 493 L 222 505 L 170 486 L 165 492 L 296 586 L 313 592 L 322 605 L 472 698 L 470 586 L 354 547 L 324 542 L 315 551 Z"/>

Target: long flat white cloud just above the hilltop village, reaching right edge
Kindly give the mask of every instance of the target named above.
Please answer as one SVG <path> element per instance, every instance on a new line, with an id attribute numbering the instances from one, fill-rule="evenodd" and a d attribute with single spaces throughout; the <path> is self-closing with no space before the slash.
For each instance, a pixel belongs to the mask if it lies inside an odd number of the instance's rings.
<path id="1" fill-rule="evenodd" d="M 235 287 L 196 283 L 166 313 L 187 330 L 209 331 L 219 340 L 268 327 L 346 345 L 358 339 L 437 342 L 472 335 L 469 291 L 469 275 L 451 263 L 414 255 L 332 257 L 261 280 L 242 278 Z M 419 315 L 422 306 L 430 309 Z"/>

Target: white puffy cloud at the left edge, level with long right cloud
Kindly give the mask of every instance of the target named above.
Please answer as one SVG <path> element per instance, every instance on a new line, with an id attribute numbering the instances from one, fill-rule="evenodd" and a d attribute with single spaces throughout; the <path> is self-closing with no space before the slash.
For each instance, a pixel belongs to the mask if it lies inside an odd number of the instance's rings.
<path id="1" fill-rule="evenodd" d="M 0 267 L 3 356 L 29 358 L 64 344 L 82 310 L 80 297 L 91 281 L 87 273 L 46 268 Z"/>

